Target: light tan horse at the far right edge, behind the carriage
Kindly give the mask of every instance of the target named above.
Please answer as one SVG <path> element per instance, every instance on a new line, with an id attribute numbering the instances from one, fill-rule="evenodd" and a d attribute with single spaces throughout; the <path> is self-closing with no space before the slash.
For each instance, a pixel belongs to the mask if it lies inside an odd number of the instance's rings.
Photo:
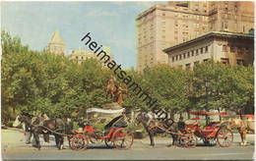
<path id="1" fill-rule="evenodd" d="M 241 137 L 240 145 L 246 145 L 246 134 L 252 132 L 254 134 L 254 121 L 253 120 L 242 120 L 231 118 L 227 121 L 227 128 L 232 129 L 236 128 Z"/>

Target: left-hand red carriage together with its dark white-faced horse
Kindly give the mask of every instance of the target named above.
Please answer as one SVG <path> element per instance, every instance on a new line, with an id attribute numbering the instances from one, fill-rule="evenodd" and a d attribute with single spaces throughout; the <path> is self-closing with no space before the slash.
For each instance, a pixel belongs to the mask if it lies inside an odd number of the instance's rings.
<path id="1" fill-rule="evenodd" d="M 133 133 L 123 123 L 124 115 L 112 119 L 105 127 L 103 132 L 97 131 L 89 122 L 84 124 L 83 131 L 69 131 L 68 125 L 62 119 L 41 120 L 39 117 L 30 114 L 17 116 L 14 127 L 22 123 L 30 127 L 35 144 L 33 146 L 40 149 L 39 134 L 52 134 L 55 136 L 56 145 L 59 149 L 63 148 L 64 136 L 68 137 L 71 149 L 86 149 L 89 143 L 95 140 L 104 140 L 105 144 L 118 149 L 128 149 L 133 144 Z M 30 138 L 31 139 L 31 138 Z M 44 140 L 45 141 L 45 140 Z"/>

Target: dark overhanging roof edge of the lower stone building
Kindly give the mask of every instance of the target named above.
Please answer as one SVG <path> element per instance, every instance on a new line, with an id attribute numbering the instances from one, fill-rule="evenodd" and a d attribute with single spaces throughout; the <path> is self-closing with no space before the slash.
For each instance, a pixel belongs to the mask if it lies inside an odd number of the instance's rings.
<path id="1" fill-rule="evenodd" d="M 199 40 L 202 40 L 202 39 L 205 39 L 205 38 L 214 37 L 214 36 L 215 37 L 217 37 L 217 36 L 219 36 L 219 37 L 230 37 L 230 38 L 238 38 L 239 37 L 239 38 L 254 39 L 254 35 L 249 34 L 249 33 L 244 34 L 244 33 L 228 32 L 228 31 L 211 31 L 211 32 L 203 34 L 199 37 L 196 37 L 194 39 L 190 39 L 188 41 L 179 43 L 177 45 L 168 47 L 168 48 L 164 49 L 163 51 L 165 53 L 167 53 L 167 52 L 175 50 L 176 48 L 191 44 L 193 42 L 196 42 L 196 41 L 199 41 Z"/>

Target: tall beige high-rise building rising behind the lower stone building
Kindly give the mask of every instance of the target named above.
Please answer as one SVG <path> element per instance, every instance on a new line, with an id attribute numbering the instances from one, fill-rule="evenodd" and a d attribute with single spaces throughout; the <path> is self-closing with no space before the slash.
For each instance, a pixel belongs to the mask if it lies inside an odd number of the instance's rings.
<path id="1" fill-rule="evenodd" d="M 245 33 L 254 27 L 253 2 L 182 1 L 159 4 L 139 14 L 137 71 L 167 63 L 162 49 L 209 31 Z"/>

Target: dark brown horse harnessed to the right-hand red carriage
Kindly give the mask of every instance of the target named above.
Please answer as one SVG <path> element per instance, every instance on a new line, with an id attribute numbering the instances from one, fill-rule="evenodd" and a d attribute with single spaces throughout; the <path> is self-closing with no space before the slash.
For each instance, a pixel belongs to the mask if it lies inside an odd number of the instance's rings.
<path id="1" fill-rule="evenodd" d="M 157 119 L 151 118 L 146 113 L 138 114 L 135 119 L 135 122 L 143 125 L 144 129 L 150 136 L 151 146 L 153 146 L 153 147 L 155 146 L 154 135 L 166 133 L 164 131 L 164 129 L 165 129 L 164 127 L 166 127 L 165 123 L 160 122 Z M 180 133 L 180 131 L 178 129 L 178 124 L 174 123 L 173 121 L 172 121 L 171 126 L 169 126 L 166 130 L 168 132 L 172 132 L 172 133 Z M 178 145 L 179 135 L 177 135 L 177 134 L 170 134 L 170 135 L 172 136 L 172 145 Z"/>

